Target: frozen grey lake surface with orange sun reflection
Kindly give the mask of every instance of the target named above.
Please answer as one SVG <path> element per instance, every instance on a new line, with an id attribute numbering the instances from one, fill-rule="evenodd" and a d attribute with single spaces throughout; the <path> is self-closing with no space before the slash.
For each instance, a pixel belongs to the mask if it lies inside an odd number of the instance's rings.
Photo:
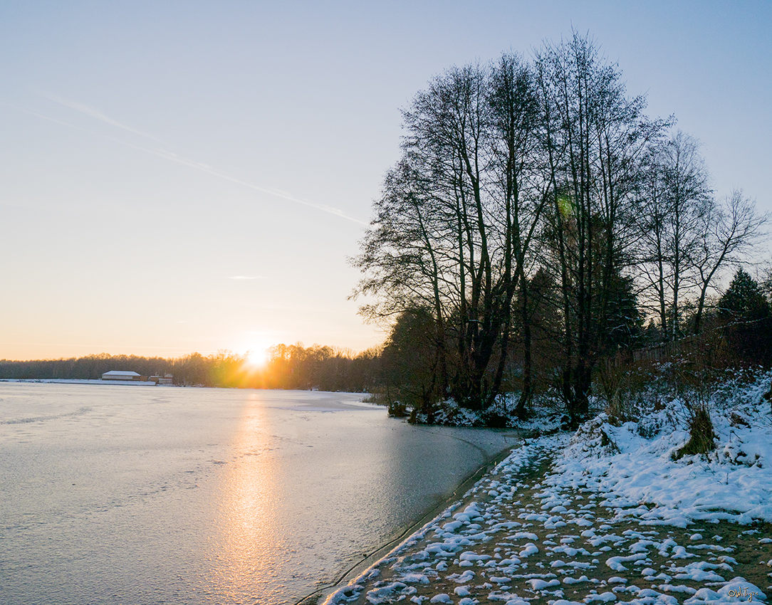
<path id="1" fill-rule="evenodd" d="M 0 383 L 3 603 L 296 603 L 516 441 L 360 400 Z"/>

